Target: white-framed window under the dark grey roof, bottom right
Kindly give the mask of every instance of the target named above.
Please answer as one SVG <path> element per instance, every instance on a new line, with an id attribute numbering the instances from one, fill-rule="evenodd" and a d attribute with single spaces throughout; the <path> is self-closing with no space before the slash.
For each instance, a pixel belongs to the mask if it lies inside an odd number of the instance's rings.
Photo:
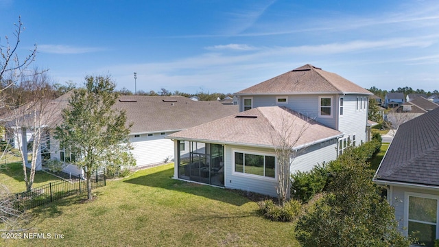
<path id="1" fill-rule="evenodd" d="M 416 237 L 425 246 L 434 246 L 438 238 L 438 198 L 412 194 L 407 196 L 406 227 L 409 234 L 418 231 Z"/>

